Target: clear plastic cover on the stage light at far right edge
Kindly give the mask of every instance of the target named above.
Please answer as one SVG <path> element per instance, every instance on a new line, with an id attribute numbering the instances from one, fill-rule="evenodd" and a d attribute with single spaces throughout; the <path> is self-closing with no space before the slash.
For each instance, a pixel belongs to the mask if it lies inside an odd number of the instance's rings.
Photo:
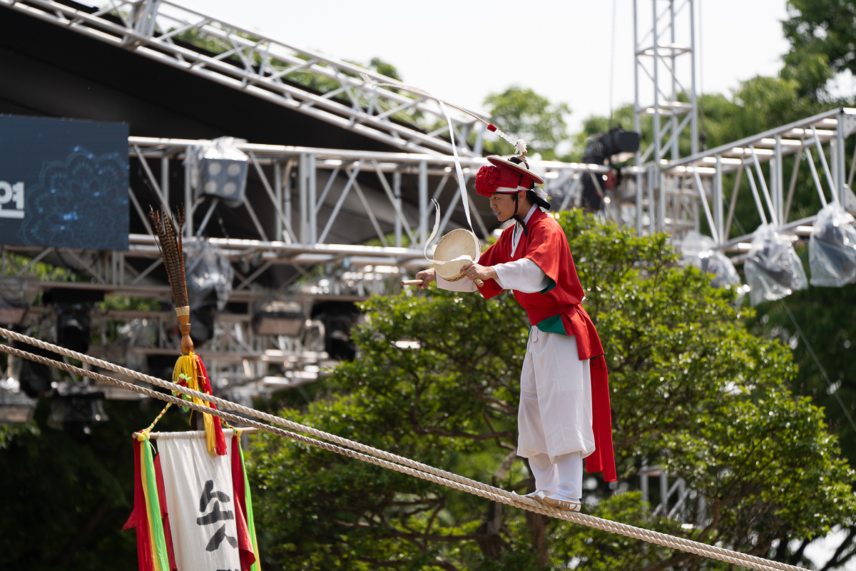
<path id="1" fill-rule="evenodd" d="M 817 212 L 808 241 L 811 285 L 841 288 L 856 281 L 856 229 L 838 202 Z"/>

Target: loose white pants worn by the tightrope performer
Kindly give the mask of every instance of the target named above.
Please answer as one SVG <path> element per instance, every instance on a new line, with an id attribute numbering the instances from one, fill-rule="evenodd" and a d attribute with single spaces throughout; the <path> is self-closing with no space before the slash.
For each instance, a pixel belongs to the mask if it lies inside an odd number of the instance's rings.
<path id="1" fill-rule="evenodd" d="M 574 462 L 579 463 L 579 470 L 557 467 L 556 477 L 562 480 L 558 487 L 575 489 L 578 495 L 574 497 L 580 497 L 582 459 L 594 452 L 595 443 L 589 361 L 580 360 L 575 337 L 544 333 L 532 327 L 520 372 L 517 423 L 520 431 L 517 455 L 529 458 L 530 465 L 533 459 L 542 465 L 542 460 L 536 458 L 538 455 L 544 455 L 544 459 L 556 466 L 570 461 L 564 459 L 566 455 L 578 455 L 579 461 Z M 533 472 L 535 469 L 532 467 Z M 552 473 L 551 469 L 546 471 Z M 565 474 L 574 482 L 564 481 Z M 544 482 L 551 477 L 545 473 Z M 544 489 L 540 485 L 538 488 Z"/>

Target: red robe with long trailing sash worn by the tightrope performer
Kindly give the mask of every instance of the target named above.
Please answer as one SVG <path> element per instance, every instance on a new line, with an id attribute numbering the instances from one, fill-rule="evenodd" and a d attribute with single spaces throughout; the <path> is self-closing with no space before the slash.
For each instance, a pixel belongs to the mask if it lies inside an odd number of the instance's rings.
<path id="1" fill-rule="evenodd" d="M 514 226 L 502 231 L 499 240 L 488 247 L 479 258 L 479 264 L 490 266 L 505 264 L 518 259 L 531 259 L 551 280 L 544 292 L 525 294 L 514 291 L 514 298 L 526 310 L 529 323 L 540 330 L 575 336 L 580 360 L 590 360 L 591 368 L 591 414 L 594 431 L 595 451 L 586 458 L 588 472 L 603 471 L 603 479 L 615 481 L 615 458 L 612 450 L 612 419 L 609 410 L 609 381 L 603 346 L 597 336 L 586 310 L 580 306 L 583 288 L 574 258 L 568 247 L 568 238 L 552 217 L 540 208 L 532 212 L 526 223 L 526 234 L 514 255 L 511 253 Z M 502 293 L 496 280 L 484 280 L 479 291 L 490 299 Z M 561 320 L 561 322 L 560 322 Z M 540 324 L 540 326 L 539 326 Z"/>

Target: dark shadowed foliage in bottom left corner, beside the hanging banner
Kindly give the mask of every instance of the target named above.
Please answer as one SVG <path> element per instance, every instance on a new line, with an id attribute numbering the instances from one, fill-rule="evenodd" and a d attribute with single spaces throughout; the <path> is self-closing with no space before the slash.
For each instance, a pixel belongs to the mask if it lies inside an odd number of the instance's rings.
<path id="1" fill-rule="evenodd" d="M 110 422 L 95 425 L 89 443 L 47 427 L 50 399 L 30 424 L 0 425 L 0 568 L 136 568 L 134 532 L 121 531 L 134 503 L 130 434 L 159 402 L 104 402 Z M 187 430 L 187 419 L 170 409 L 158 428 Z"/>

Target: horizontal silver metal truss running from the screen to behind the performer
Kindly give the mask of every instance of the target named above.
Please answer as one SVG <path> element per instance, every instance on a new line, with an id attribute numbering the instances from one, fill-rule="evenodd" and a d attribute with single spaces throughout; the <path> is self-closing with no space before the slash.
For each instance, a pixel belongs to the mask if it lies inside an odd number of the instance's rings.
<path id="1" fill-rule="evenodd" d="M 202 141 L 131 137 L 128 144 L 130 156 L 139 159 L 146 182 L 158 201 L 169 206 L 167 173 L 170 163 L 181 163 L 187 148 L 199 146 Z M 245 198 L 242 206 L 253 220 L 257 233 L 254 239 L 203 238 L 206 226 L 211 223 L 211 212 L 217 208 L 217 199 L 206 195 L 194 198 L 190 185 L 184 185 L 185 210 L 191 214 L 197 209 L 205 211 L 198 228 L 193 227 L 193 217 L 187 217 L 185 240 L 209 241 L 217 253 L 235 264 L 241 263 L 247 255 L 253 255 L 256 265 L 252 273 L 245 276 L 239 272 L 240 281 L 233 292 L 237 300 L 257 296 L 249 286 L 273 265 L 306 271 L 315 265 L 337 263 L 347 258 L 349 265 L 355 268 L 389 266 L 395 268 L 393 273 L 396 274 L 422 268 L 427 263 L 423 249 L 435 213 L 431 200 L 448 197 L 440 204 L 443 212 L 441 235 L 455 226 L 451 220 L 455 211 L 462 211 L 461 194 L 454 188 L 454 159 L 451 157 L 253 144 L 240 145 L 239 148 L 250 157 L 253 175 L 265 189 L 262 199 L 251 202 Z M 461 164 L 465 178 L 469 179 L 487 161 L 484 158 L 461 158 Z M 160 177 L 152 169 L 156 165 Z M 540 166 L 545 170 L 548 192 L 554 196 L 560 209 L 574 205 L 574 195 L 578 192 L 582 176 L 597 179 L 609 171 L 609 167 L 596 164 L 545 161 Z M 358 175 L 369 176 L 370 180 L 358 181 Z M 402 199 L 402 175 L 417 176 L 418 204 L 408 204 Z M 185 179 L 187 176 L 186 172 Z M 436 186 L 430 186 L 430 180 L 436 180 Z M 446 193 L 443 193 L 444 189 Z M 132 218 L 139 217 L 144 225 L 147 224 L 144 205 L 133 189 L 129 188 L 128 193 Z M 474 207 L 471 190 L 467 191 L 467 199 Z M 261 211 L 276 213 L 276 227 L 272 233 L 265 231 L 259 222 L 257 213 Z M 362 217 L 364 225 L 370 224 L 382 245 L 366 246 L 332 240 L 331 233 L 342 224 L 341 218 L 346 211 Z M 491 234 L 487 228 L 489 223 L 485 223 L 474 208 L 473 215 L 477 234 L 486 239 Z M 165 285 L 149 278 L 151 271 L 160 264 L 158 247 L 152 235 L 131 234 L 129 243 L 128 252 L 25 246 L 8 248 L 9 251 L 27 253 L 35 261 L 51 252 L 67 254 L 74 271 L 92 277 L 92 283 L 73 287 L 98 288 L 127 295 L 167 294 Z M 152 259 L 152 265 L 138 271 L 128 264 L 128 259 L 134 258 Z M 23 268 L 18 273 L 25 271 Z"/>

